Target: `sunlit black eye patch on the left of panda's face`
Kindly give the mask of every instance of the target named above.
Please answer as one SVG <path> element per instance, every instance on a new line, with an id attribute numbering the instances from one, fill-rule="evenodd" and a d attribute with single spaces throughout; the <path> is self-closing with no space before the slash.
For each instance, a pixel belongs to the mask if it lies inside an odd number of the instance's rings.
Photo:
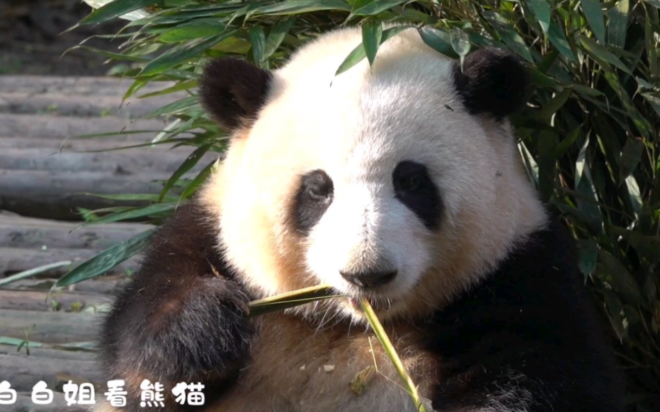
<path id="1" fill-rule="evenodd" d="M 305 234 L 309 233 L 332 203 L 333 192 L 332 179 L 323 170 L 312 170 L 304 174 L 295 195 L 292 215 L 295 228 Z"/>

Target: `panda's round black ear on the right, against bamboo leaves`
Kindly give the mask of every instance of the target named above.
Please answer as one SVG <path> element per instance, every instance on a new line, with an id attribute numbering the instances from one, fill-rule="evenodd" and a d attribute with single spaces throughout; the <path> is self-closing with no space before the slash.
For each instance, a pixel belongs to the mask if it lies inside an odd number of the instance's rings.
<path id="1" fill-rule="evenodd" d="M 454 67 L 456 92 L 472 115 L 490 113 L 502 120 L 525 104 L 528 82 L 520 59 L 494 47 L 470 53 L 462 71 L 459 64 Z"/>

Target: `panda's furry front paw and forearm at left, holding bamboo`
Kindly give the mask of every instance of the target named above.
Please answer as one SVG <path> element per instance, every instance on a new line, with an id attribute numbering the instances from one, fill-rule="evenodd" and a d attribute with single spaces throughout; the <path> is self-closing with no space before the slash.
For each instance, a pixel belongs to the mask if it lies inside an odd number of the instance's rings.
<path id="1" fill-rule="evenodd" d="M 133 285 L 122 295 L 104 327 L 108 376 L 225 379 L 247 361 L 254 329 L 238 283 L 195 277 L 163 288 Z"/>

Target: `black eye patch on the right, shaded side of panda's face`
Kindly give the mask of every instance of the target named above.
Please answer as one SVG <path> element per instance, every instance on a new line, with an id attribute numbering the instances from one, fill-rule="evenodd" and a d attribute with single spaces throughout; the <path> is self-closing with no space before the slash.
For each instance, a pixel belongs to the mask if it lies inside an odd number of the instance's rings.
<path id="1" fill-rule="evenodd" d="M 438 229 L 443 202 L 427 167 L 412 160 L 404 160 L 394 168 L 392 182 L 395 197 L 413 211 L 427 229 Z"/>

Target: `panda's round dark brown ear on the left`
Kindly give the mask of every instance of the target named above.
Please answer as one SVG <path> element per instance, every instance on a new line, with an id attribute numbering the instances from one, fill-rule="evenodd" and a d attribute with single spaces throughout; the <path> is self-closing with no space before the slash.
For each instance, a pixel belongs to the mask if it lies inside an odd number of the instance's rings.
<path id="1" fill-rule="evenodd" d="M 254 120 L 271 79 L 270 72 L 243 60 L 213 60 L 201 76 L 201 104 L 226 129 L 236 129 Z"/>

